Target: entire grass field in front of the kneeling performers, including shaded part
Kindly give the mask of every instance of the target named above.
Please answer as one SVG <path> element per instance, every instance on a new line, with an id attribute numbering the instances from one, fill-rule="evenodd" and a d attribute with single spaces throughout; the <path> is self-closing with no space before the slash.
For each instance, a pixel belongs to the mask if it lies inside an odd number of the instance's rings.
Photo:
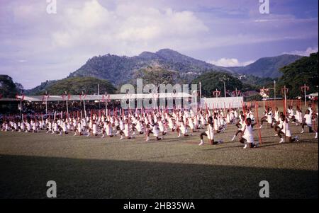
<path id="1" fill-rule="evenodd" d="M 261 180 L 271 198 L 318 198 L 313 133 L 279 144 L 264 125 L 262 146 L 242 149 L 230 142 L 235 130 L 217 134 L 224 143 L 214 146 L 198 146 L 198 132 L 159 142 L 0 132 L 0 198 L 46 198 L 48 180 L 58 198 L 258 198 Z"/>

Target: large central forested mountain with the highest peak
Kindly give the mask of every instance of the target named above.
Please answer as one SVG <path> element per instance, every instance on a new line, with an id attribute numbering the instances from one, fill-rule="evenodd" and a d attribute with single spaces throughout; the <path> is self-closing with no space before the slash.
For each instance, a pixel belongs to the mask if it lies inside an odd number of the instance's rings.
<path id="1" fill-rule="evenodd" d="M 178 71 L 181 79 L 186 81 L 191 81 L 206 71 L 230 71 L 225 67 L 208 64 L 174 50 L 163 49 L 155 53 L 142 52 L 135 57 L 120 57 L 112 54 L 92 57 L 77 71 L 69 74 L 69 77 L 91 76 L 108 79 L 119 86 L 130 81 L 136 71 L 147 67 L 161 67 L 169 71 Z"/>

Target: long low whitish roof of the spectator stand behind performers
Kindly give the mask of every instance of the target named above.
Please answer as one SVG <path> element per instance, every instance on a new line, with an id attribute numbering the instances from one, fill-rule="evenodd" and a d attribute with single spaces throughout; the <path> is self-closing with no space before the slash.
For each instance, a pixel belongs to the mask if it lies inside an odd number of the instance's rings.
<path id="1" fill-rule="evenodd" d="M 122 100 L 122 99 L 146 99 L 146 98 L 191 98 L 194 97 L 189 93 L 138 93 L 138 94 L 110 94 L 110 95 L 73 95 L 73 96 L 16 96 L 20 100 L 30 102 L 43 101 L 81 101 L 81 100 Z"/>

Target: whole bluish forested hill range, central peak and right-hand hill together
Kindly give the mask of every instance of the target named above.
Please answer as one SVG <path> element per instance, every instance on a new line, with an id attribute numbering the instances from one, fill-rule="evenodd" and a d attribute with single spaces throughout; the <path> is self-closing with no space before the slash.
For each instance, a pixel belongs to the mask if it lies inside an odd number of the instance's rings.
<path id="1" fill-rule="evenodd" d="M 169 71 L 178 71 L 183 81 L 191 81 L 207 71 L 223 71 L 230 74 L 247 74 L 261 78 L 277 78 L 281 76 L 279 69 L 301 56 L 283 54 L 277 57 L 264 57 L 246 67 L 218 67 L 174 50 L 163 49 L 157 52 L 142 52 L 135 57 L 106 54 L 89 59 L 77 71 L 69 74 L 74 76 L 91 76 L 108 79 L 114 85 L 125 84 L 133 78 L 136 71 L 147 67 L 160 67 Z"/>

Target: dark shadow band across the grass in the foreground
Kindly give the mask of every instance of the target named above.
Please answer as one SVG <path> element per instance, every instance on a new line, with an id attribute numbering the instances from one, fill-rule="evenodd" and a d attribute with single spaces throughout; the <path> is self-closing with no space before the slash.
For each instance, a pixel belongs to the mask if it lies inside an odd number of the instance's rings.
<path id="1" fill-rule="evenodd" d="M 0 198 L 318 198 L 318 171 L 182 163 L 0 156 Z"/>

